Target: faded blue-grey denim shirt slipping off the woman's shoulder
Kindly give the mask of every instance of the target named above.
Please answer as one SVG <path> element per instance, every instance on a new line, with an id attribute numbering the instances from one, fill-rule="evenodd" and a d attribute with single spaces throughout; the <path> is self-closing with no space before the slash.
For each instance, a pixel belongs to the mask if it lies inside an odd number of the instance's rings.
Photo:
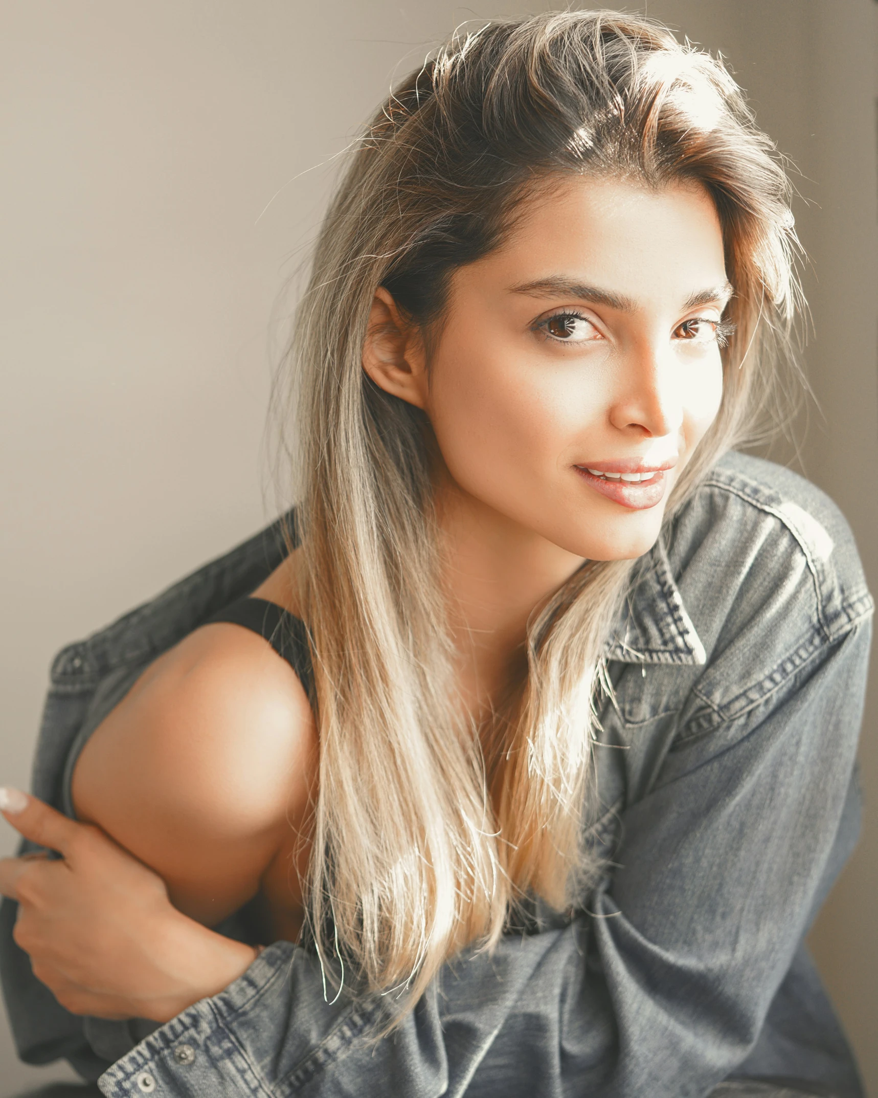
<path id="1" fill-rule="evenodd" d="M 91 731 L 283 553 L 275 524 L 65 648 L 33 792 L 71 814 Z M 379 1039 L 390 1000 L 327 1000 L 314 955 L 290 942 L 167 1024 L 77 1018 L 33 977 L 4 901 L 0 973 L 22 1058 L 67 1057 L 120 1098 L 700 1098 L 729 1077 L 862 1098 L 802 945 L 858 830 L 873 603 L 851 533 L 807 481 L 729 453 L 642 563 L 609 642 L 615 702 L 595 748 L 588 841 L 606 869 L 576 910 L 534 905 L 493 953 L 446 965 Z"/>

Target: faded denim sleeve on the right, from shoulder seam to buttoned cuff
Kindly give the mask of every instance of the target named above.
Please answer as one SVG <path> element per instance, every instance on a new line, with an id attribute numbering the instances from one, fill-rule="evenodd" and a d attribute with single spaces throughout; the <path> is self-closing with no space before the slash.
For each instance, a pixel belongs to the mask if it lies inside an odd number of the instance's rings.
<path id="1" fill-rule="evenodd" d="M 683 737 L 587 911 L 446 966 L 390 1037 L 275 943 L 100 1079 L 108 1096 L 701 1098 L 745 1060 L 821 894 L 849 786 L 869 625 L 721 735 Z"/>

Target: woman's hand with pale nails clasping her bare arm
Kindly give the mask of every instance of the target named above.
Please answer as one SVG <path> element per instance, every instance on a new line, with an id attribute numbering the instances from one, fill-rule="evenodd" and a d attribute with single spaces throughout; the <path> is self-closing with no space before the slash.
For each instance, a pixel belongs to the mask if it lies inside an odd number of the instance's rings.
<path id="1" fill-rule="evenodd" d="M 18 900 L 14 940 L 67 1010 L 165 1022 L 252 963 L 251 946 L 178 911 L 162 879 L 100 828 L 18 789 L 0 789 L 0 809 L 61 855 L 0 860 L 0 894 Z"/>

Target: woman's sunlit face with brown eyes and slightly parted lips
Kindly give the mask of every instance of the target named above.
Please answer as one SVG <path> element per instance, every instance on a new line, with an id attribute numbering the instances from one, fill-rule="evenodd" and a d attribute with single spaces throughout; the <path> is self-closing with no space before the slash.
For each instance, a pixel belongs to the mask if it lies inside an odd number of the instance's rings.
<path id="1" fill-rule="evenodd" d="M 638 557 L 722 395 L 700 187 L 575 177 L 459 269 L 420 399 L 447 486 L 593 560 Z"/>

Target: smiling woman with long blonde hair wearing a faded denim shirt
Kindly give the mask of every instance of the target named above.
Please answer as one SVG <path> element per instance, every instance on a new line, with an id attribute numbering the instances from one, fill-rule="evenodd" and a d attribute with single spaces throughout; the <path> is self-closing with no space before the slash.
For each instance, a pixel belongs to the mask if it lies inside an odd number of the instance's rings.
<path id="1" fill-rule="evenodd" d="M 64 855 L 4 867 L 24 1054 L 108 1094 L 859 1094 L 800 943 L 871 602 L 829 501 L 730 452 L 785 383 L 786 195 L 633 16 L 403 81 L 300 307 L 284 547 L 56 662 L 35 793 L 98 827 L 7 814 Z"/>

